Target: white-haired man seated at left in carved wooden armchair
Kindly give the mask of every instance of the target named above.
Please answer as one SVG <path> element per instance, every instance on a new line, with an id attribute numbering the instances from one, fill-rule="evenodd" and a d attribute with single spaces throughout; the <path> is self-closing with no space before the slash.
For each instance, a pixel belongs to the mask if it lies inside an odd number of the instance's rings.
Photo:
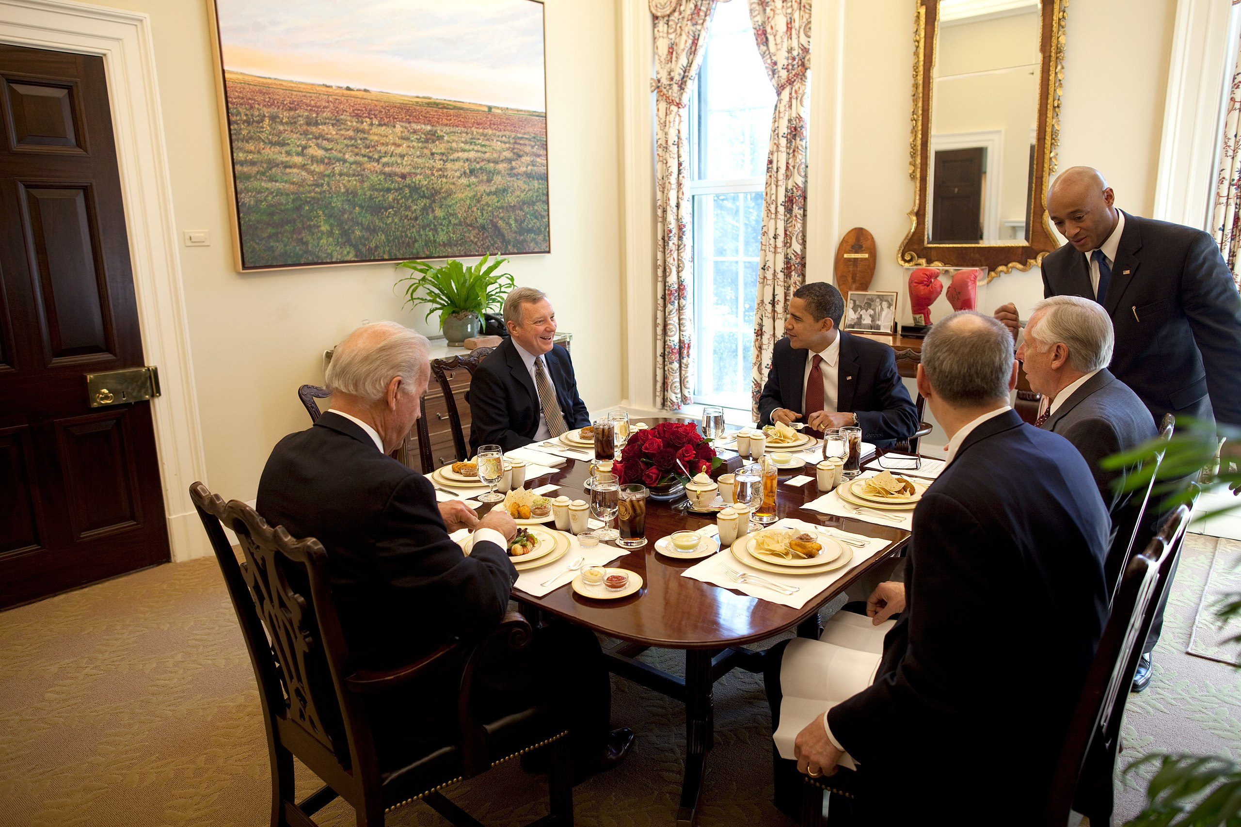
<path id="1" fill-rule="evenodd" d="M 354 330 L 328 366 L 331 410 L 272 451 L 257 510 L 328 551 L 333 596 L 354 666 L 383 669 L 449 638 L 477 638 L 504 616 L 516 570 L 503 509 L 482 519 L 460 502 L 436 504 L 431 482 L 387 456 L 418 418 L 431 376 L 427 339 L 393 322 Z M 474 526 L 465 556 L 448 530 Z M 436 743 L 455 729 L 459 661 L 369 707 L 380 754 Z M 580 777 L 614 766 L 633 743 L 608 731 L 611 692 L 594 635 L 570 625 L 535 631 L 529 647 L 490 652 L 475 672 L 475 712 L 494 720 L 542 694 L 566 699 Z"/>

